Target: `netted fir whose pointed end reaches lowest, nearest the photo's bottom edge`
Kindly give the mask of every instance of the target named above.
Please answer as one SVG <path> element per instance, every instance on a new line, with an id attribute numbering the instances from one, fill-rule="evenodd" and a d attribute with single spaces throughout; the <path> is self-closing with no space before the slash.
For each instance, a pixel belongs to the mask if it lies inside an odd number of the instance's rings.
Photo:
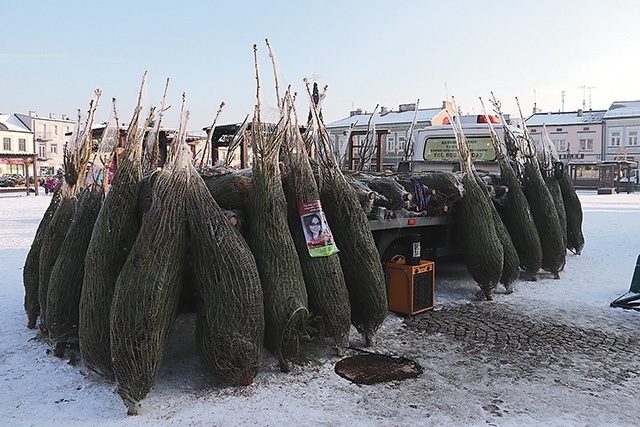
<path id="1" fill-rule="evenodd" d="M 175 320 L 186 250 L 186 173 L 161 171 L 138 237 L 115 284 L 111 359 L 128 413 L 155 382 Z"/>

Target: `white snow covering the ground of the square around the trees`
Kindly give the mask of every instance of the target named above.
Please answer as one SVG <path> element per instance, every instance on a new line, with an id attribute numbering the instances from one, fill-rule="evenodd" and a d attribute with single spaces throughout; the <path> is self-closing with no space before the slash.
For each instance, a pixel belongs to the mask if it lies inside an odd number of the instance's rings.
<path id="1" fill-rule="evenodd" d="M 609 307 L 629 290 L 640 252 L 640 194 L 580 192 L 586 246 L 569 254 L 560 280 L 519 281 L 493 302 L 475 299 L 464 269 L 436 266 L 436 310 L 494 304 L 527 319 L 640 336 L 640 313 Z M 400 426 L 635 425 L 638 360 L 618 364 L 571 354 L 509 358 L 443 334 L 407 328 L 389 314 L 372 351 L 409 357 L 417 379 L 358 386 L 334 373 L 335 356 L 319 366 L 279 372 L 265 352 L 253 385 L 220 388 L 196 356 L 193 316 L 176 322 L 156 384 L 141 413 L 128 417 L 115 386 L 81 361 L 54 357 L 26 328 L 22 267 L 50 196 L 0 195 L 0 420 L 10 426 Z M 362 340 L 352 333 L 352 346 Z M 631 353 L 633 354 L 633 353 Z M 639 352 L 635 352 L 637 356 Z M 612 359 L 613 360 L 613 359 Z M 545 362 L 547 361 L 547 362 Z M 616 371 L 618 372 L 618 371 Z"/>

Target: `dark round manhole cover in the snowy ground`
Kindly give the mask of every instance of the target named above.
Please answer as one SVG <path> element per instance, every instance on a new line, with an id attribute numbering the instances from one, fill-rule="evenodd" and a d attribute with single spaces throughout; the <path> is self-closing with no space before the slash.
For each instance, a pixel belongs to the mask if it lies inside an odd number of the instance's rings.
<path id="1" fill-rule="evenodd" d="M 356 384 L 378 384 L 416 378 L 422 367 L 405 357 L 364 354 L 350 356 L 336 363 L 336 374 Z"/>

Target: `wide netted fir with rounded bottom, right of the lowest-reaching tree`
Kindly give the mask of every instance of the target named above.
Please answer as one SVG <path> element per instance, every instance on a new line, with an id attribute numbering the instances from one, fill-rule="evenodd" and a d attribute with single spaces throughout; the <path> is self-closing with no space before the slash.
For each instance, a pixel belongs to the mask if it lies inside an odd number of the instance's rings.
<path id="1" fill-rule="evenodd" d="M 187 200 L 198 310 L 196 345 L 226 384 L 253 382 L 264 337 L 264 305 L 255 259 L 240 233 L 192 173 Z"/>

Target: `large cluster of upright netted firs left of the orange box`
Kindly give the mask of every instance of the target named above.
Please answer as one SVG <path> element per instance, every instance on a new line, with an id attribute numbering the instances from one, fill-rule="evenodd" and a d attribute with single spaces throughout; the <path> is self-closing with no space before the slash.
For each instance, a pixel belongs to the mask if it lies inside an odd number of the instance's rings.
<path id="1" fill-rule="evenodd" d="M 222 385 L 251 384 L 263 346 L 288 371 L 320 350 L 341 352 L 352 324 L 375 339 L 386 290 L 367 218 L 355 193 L 350 221 L 330 214 L 322 193 L 349 185 L 340 175 L 316 186 L 305 151 L 313 136 L 300 134 L 292 94 L 281 100 L 275 125 L 262 122 L 258 103 L 255 161 L 232 215 L 196 169 L 184 99 L 164 162 L 154 148 L 161 117 L 151 108 L 143 119 L 142 96 L 124 141 L 105 129 L 105 144 L 92 149 L 96 99 L 69 145 L 64 182 L 25 264 L 28 325 L 60 357 L 79 348 L 89 369 L 115 381 L 129 414 L 152 388 L 186 300 L 196 301 L 198 352 Z M 311 127 L 326 132 L 320 120 Z M 310 240 L 312 216 L 323 233 Z M 230 218 L 242 218 L 244 234 Z"/>

